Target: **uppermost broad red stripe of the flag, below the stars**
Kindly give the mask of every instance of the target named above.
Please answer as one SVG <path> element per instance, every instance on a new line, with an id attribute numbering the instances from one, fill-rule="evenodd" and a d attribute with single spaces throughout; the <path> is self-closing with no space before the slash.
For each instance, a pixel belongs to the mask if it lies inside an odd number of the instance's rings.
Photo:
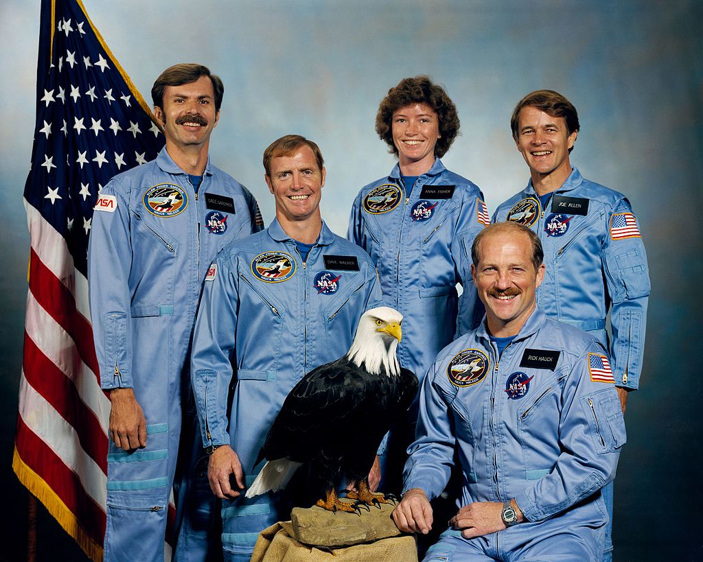
<path id="1" fill-rule="evenodd" d="M 100 371 L 93 345 L 93 329 L 76 310 L 76 301 L 70 290 L 44 266 L 33 248 L 30 253 L 30 291 L 51 318 L 72 337 L 83 362 L 95 373 L 99 382 Z"/>

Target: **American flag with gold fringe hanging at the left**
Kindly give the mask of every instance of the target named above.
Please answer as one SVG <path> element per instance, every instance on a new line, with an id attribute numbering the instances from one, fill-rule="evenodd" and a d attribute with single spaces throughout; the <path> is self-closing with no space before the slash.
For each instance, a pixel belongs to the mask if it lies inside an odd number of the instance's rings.
<path id="1" fill-rule="evenodd" d="M 81 2 L 42 0 L 13 469 L 94 560 L 103 554 L 110 403 L 93 348 L 88 236 L 102 186 L 153 159 L 163 143 Z"/>

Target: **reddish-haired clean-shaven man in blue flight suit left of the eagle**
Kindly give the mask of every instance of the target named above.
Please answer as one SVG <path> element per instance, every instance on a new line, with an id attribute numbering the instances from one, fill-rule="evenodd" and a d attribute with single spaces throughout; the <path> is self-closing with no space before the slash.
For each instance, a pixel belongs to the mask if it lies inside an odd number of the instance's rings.
<path id="1" fill-rule="evenodd" d="M 285 397 L 314 367 L 347 353 L 359 318 L 381 302 L 366 252 L 321 219 L 318 146 L 284 136 L 264 152 L 264 169 L 276 220 L 212 263 L 193 335 L 193 388 L 210 486 L 223 500 L 226 561 L 248 561 L 258 533 L 290 518 L 285 491 L 243 495 Z"/>

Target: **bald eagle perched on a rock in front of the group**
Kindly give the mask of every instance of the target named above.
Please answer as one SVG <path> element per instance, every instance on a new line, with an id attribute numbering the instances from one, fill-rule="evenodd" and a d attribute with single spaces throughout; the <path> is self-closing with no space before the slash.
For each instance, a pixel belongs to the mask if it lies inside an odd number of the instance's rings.
<path id="1" fill-rule="evenodd" d="M 418 379 L 396 357 L 402 321 L 386 306 L 366 311 L 346 355 L 293 387 L 259 452 L 255 465 L 268 462 L 247 497 L 285 488 L 298 471 L 302 487 L 294 502 L 301 507 L 354 511 L 337 497 L 342 478 L 356 482 L 357 491 L 347 497 L 385 503 L 382 494 L 370 492 L 368 473 L 383 436 L 418 391 Z"/>

